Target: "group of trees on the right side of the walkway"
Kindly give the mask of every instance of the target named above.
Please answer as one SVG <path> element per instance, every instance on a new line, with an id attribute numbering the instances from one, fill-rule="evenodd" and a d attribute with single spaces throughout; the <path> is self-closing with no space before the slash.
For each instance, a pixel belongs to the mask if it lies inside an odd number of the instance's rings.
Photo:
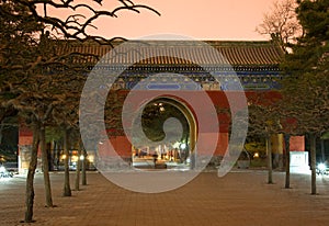
<path id="1" fill-rule="evenodd" d="M 316 139 L 329 131 L 329 1 L 276 1 L 258 31 L 271 35 L 285 52 L 280 101 L 251 101 L 251 128 L 258 134 L 283 133 L 286 140 L 286 182 L 290 188 L 288 137 L 310 140 L 311 194 L 316 194 Z M 271 155 L 271 151 L 269 152 Z M 271 166 L 269 165 L 271 168 Z M 269 182 L 272 182 L 269 173 Z"/>

